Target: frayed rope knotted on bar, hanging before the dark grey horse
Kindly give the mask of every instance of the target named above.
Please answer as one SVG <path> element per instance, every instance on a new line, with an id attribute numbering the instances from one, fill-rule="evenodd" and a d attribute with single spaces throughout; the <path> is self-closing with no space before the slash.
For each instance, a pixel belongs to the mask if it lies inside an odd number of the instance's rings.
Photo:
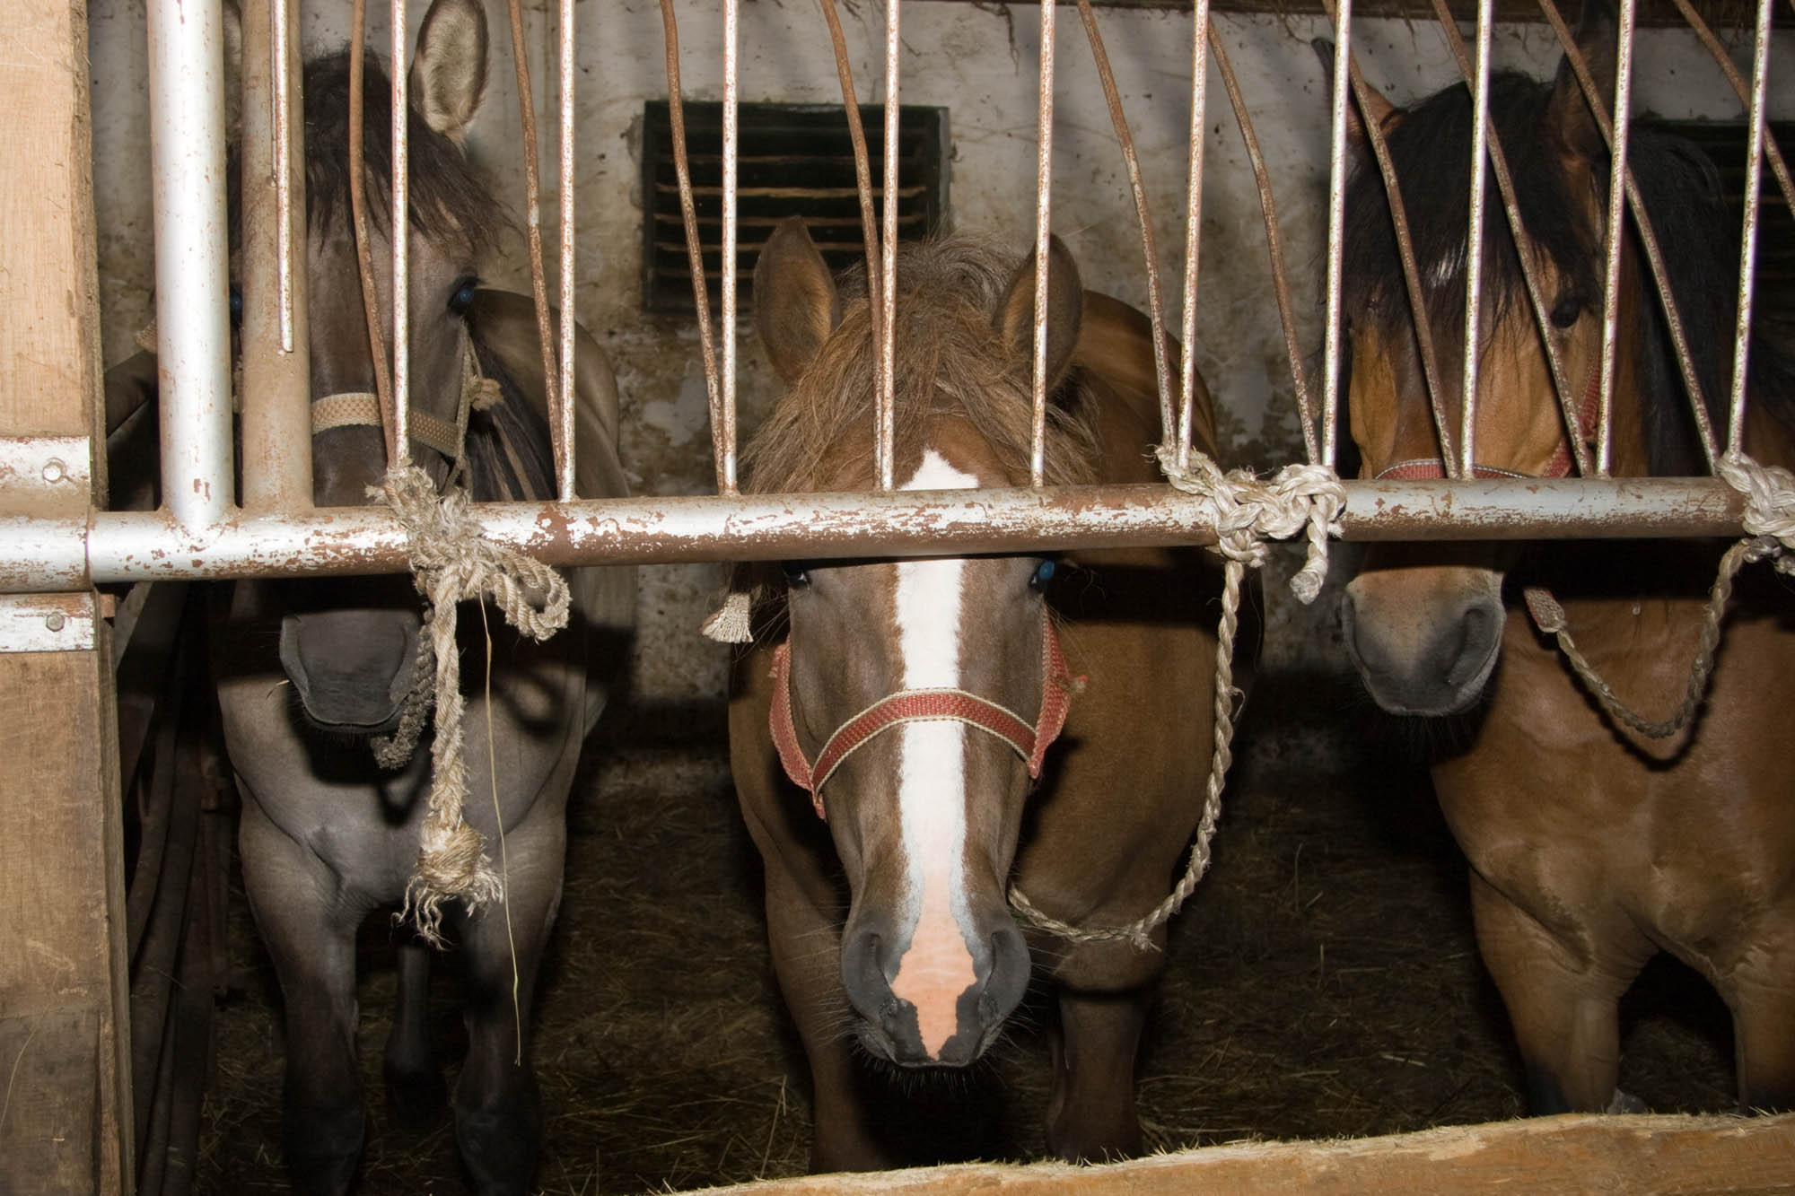
<path id="1" fill-rule="evenodd" d="M 503 896 L 486 857 L 486 840 L 467 824 L 467 761 L 461 747 L 461 654 L 456 648 L 456 603 L 486 600 L 531 639 L 547 639 L 567 625 L 571 594 L 553 567 L 503 548 L 479 533 L 467 490 L 436 492 L 416 465 L 388 470 L 368 496 L 384 501 L 406 526 L 413 584 L 424 596 L 424 634 L 413 691 L 398 731 L 375 743 L 384 767 L 398 767 L 416 749 L 431 708 L 431 796 L 418 833 L 418 860 L 406 884 L 400 919 L 411 919 L 431 945 L 442 945 L 442 903 L 460 898 L 468 912 Z M 409 742 L 407 742 L 409 738 Z"/>

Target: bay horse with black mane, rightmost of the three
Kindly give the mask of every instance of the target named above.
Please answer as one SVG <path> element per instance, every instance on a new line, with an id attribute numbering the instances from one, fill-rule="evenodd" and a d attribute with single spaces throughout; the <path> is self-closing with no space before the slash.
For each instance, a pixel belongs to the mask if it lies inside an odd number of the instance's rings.
<path id="1" fill-rule="evenodd" d="M 1612 110 L 1614 16 L 1585 7 L 1578 43 Z M 1445 409 L 1461 408 L 1470 97 L 1454 86 L 1366 113 L 1388 133 L 1413 224 Z M 1502 75 L 1490 92 L 1520 215 L 1572 395 L 1594 435 L 1608 151 L 1571 74 Z M 1738 228 L 1700 151 L 1650 120 L 1628 163 L 1668 259 L 1694 366 L 1727 391 Z M 1565 476 L 1571 449 L 1520 259 L 1490 203 L 1479 303 L 1477 474 Z M 1361 154 L 1348 192 L 1350 418 L 1361 476 L 1441 476 L 1388 198 Z M 1614 472 L 1702 472 L 1637 228 L 1621 268 Z M 1752 350 L 1745 447 L 1790 465 L 1790 363 Z M 1587 386 L 1585 386 L 1587 383 Z M 1587 397 L 1585 397 L 1587 395 Z M 1716 404 L 1718 408 L 1718 404 Z M 1716 424 L 1725 426 L 1716 411 Z M 1526 485 L 1526 481 L 1515 481 Z M 1741 575 L 1705 704 L 1650 740 L 1610 718 L 1528 623 L 1517 591 L 1554 594 L 1578 646 L 1633 709 L 1669 709 L 1689 684 L 1720 548 L 1702 542 L 1377 546 L 1344 594 L 1348 650 L 1388 711 L 1440 724 L 1440 806 L 1470 862 L 1483 954 L 1513 1024 L 1537 1113 L 1624 1110 L 1617 1000 L 1659 952 L 1702 973 L 1732 1011 L 1745 1108 L 1795 1106 L 1795 607 Z"/>

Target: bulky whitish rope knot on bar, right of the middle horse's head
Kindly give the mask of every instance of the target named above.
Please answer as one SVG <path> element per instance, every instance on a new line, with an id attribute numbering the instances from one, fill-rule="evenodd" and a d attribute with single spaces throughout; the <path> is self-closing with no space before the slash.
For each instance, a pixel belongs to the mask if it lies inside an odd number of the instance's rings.
<path id="1" fill-rule="evenodd" d="M 1269 555 L 1267 541 L 1307 532 L 1309 550 L 1303 567 L 1291 578 L 1291 591 L 1305 605 L 1316 600 L 1328 571 L 1328 537 L 1341 533 L 1339 515 L 1346 508 L 1346 488 L 1334 469 L 1285 465 L 1269 481 L 1260 481 L 1246 469 L 1224 474 L 1201 453 L 1190 465 L 1179 465 L 1172 445 L 1160 445 L 1158 458 L 1167 481 L 1206 499 L 1215 521 L 1213 551 L 1226 560 L 1256 569 Z"/>

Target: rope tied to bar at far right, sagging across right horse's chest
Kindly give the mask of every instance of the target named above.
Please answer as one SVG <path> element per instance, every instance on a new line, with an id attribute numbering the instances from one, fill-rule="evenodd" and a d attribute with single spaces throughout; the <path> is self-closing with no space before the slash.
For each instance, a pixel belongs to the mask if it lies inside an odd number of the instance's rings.
<path id="1" fill-rule="evenodd" d="M 1571 638 L 1569 620 L 1551 591 L 1529 585 L 1522 591 L 1528 614 L 1535 627 L 1551 636 L 1563 652 L 1565 661 L 1576 675 L 1596 695 L 1603 709 L 1617 722 L 1632 727 L 1650 740 L 1664 740 L 1677 734 L 1707 697 L 1707 682 L 1714 675 L 1714 652 L 1720 648 L 1720 625 L 1732 600 L 1732 578 L 1739 569 L 1756 560 L 1770 560 L 1777 573 L 1795 575 L 1795 474 L 1781 465 L 1761 465 L 1743 453 L 1729 453 L 1714 463 L 1714 472 L 1721 481 L 1745 496 L 1745 515 L 1739 519 L 1745 537 L 1720 558 L 1714 585 L 1709 589 L 1707 603 L 1702 607 L 1702 632 L 1696 639 L 1694 661 L 1689 664 L 1689 684 L 1684 688 L 1682 702 L 1668 718 L 1651 720 L 1637 713 L 1596 672 L 1589 657 Z"/>

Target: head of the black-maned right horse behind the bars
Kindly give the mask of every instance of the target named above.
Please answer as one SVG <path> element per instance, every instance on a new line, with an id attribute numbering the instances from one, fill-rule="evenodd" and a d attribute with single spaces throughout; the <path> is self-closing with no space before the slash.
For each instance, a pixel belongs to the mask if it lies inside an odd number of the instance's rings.
<path id="1" fill-rule="evenodd" d="M 1590 0 L 1578 31 L 1610 108 L 1612 16 L 1608 5 Z M 1454 453 L 1463 427 L 1470 93 L 1458 86 L 1413 110 L 1382 99 L 1373 108 L 1402 185 L 1425 311 L 1413 311 L 1384 181 L 1362 147 L 1362 126 L 1355 126 L 1361 153 L 1348 190 L 1350 347 L 1343 366 L 1352 438 L 1364 478 L 1443 478 L 1436 424 L 1445 424 Z M 1608 153 L 1569 59 L 1551 84 L 1497 75 L 1490 117 L 1515 181 L 1526 246 L 1517 248 L 1497 201 L 1486 201 L 1472 474 L 1563 478 L 1576 462 L 1569 436 L 1587 445 L 1598 422 Z M 1569 420 L 1554 399 L 1522 257 L 1547 312 L 1545 336 L 1562 365 Z M 1664 462 L 1653 460 L 1662 436 L 1637 399 L 1651 312 L 1630 250 L 1619 295 L 1614 472 L 1664 472 Z M 1432 400 L 1414 321 L 1425 321 L 1436 354 Z M 1346 587 L 1343 618 L 1348 652 L 1380 706 L 1452 715 L 1479 700 L 1502 645 L 1502 580 L 1515 557 L 1513 548 L 1472 544 L 1368 551 L 1364 569 Z"/>

